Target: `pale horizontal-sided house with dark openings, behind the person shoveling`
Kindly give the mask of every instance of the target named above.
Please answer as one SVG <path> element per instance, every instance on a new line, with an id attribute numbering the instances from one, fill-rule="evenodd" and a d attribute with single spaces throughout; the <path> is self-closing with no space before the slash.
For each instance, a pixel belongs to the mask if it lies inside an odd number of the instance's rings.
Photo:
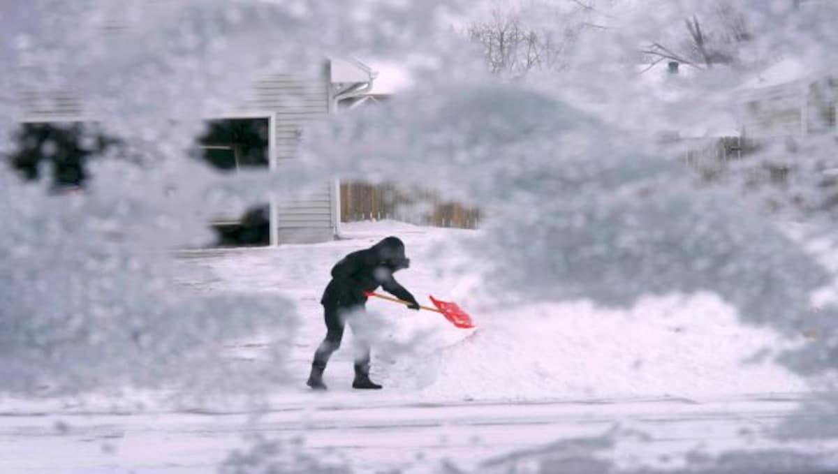
<path id="1" fill-rule="evenodd" d="M 379 95 L 369 94 L 374 77 L 365 64 L 344 59 L 324 60 L 316 75 L 283 71 L 265 75 L 242 91 L 241 101 L 230 111 L 205 117 L 208 131 L 196 141 L 215 167 L 231 173 L 244 167 L 269 167 L 281 173 L 282 166 L 294 159 L 306 126 L 324 120 L 339 106 L 380 100 Z M 22 90 L 19 97 L 23 126 L 42 134 L 49 134 L 49 126 L 58 123 L 96 121 L 71 90 Z M 338 183 L 326 181 L 313 193 L 266 204 L 261 214 L 252 209 L 247 214 L 231 211 L 208 224 L 225 229 L 228 236 L 239 232 L 236 228 L 241 225 L 261 225 L 266 231 L 251 239 L 272 245 L 332 240 L 339 234 L 340 193 Z"/>

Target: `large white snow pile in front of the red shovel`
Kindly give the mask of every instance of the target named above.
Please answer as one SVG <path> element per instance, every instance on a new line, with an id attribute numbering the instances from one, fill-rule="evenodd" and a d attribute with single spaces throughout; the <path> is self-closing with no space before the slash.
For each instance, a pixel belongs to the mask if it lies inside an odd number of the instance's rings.
<path id="1" fill-rule="evenodd" d="M 482 315 L 441 348 L 423 394 L 466 399 L 590 399 L 797 392 L 803 379 L 766 363 L 779 335 L 743 327 L 717 297 L 670 296 L 629 311 L 589 302 Z"/>

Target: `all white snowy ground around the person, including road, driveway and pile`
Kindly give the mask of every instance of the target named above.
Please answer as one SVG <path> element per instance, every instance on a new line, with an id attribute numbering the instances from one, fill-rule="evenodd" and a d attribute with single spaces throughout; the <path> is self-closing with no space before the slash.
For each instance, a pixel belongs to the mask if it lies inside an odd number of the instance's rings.
<path id="1" fill-rule="evenodd" d="M 261 460 L 251 463 L 262 466 L 254 472 L 269 472 L 271 462 L 307 466 L 300 456 L 334 458 L 356 472 L 424 472 L 443 460 L 504 471 L 533 452 L 566 448 L 550 443 L 596 439 L 615 425 L 646 433 L 611 450 L 619 466 L 671 467 L 696 449 L 776 447 L 768 430 L 801 416 L 794 410 L 807 384 L 764 357 L 763 349 L 783 345 L 779 337 L 742 326 L 715 296 L 649 298 L 624 311 L 589 301 L 500 307 L 473 271 L 463 270 L 468 262 L 456 251 L 463 244 L 446 245 L 472 232 L 360 223 L 345 225 L 345 240 L 325 244 L 184 252 L 181 283 L 189 291 L 271 292 L 297 301 L 301 327 L 288 384 L 258 408 L 163 407 L 104 396 L 85 404 L 6 399 L 0 472 L 209 472 L 233 449 L 241 456 L 229 463 Z M 373 379 L 385 390 L 349 388 L 348 332 L 326 372 L 328 393 L 309 392 L 304 381 L 324 334 L 318 301 L 328 270 L 349 251 L 391 234 L 405 241 L 411 257 L 411 268 L 397 275 L 401 283 L 417 297 L 457 301 L 478 328 L 457 329 L 435 313 L 370 301 L 370 318 L 382 328 Z M 232 342 L 230 358 L 264 358 L 281 336 Z M 311 461 L 308 471 L 323 467 L 321 461 Z"/>

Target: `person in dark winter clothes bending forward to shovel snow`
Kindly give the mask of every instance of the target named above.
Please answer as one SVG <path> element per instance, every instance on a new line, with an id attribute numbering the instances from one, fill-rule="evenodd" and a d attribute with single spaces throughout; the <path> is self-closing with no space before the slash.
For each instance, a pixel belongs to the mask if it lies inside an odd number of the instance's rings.
<path id="1" fill-rule="evenodd" d="M 312 389 L 323 390 L 323 371 L 328 358 L 338 350 L 344 337 L 347 322 L 352 324 L 357 313 L 364 312 L 367 293 L 379 286 L 405 301 L 407 307 L 418 310 L 416 298 L 401 286 L 393 274 L 410 266 L 405 256 L 405 245 L 397 237 L 387 237 L 369 249 L 358 250 L 346 255 L 332 268 L 332 280 L 328 282 L 323 298 L 323 316 L 326 322 L 326 337 L 314 353 L 312 371 L 308 384 Z M 354 316 L 353 316 L 354 315 Z M 353 327 L 356 344 L 354 389 L 380 389 L 381 385 L 370 380 L 370 344 L 360 331 Z"/>

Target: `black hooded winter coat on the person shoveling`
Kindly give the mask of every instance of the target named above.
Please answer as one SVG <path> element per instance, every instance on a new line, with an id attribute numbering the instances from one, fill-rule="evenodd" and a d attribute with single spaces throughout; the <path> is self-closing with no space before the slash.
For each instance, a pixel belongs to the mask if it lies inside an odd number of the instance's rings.
<path id="1" fill-rule="evenodd" d="M 332 268 L 332 281 L 328 282 L 320 302 L 328 307 L 362 306 L 367 301 L 364 292 L 381 286 L 393 296 L 418 305 L 411 292 L 393 277 L 396 271 L 408 268 L 410 262 L 405 256 L 405 245 L 396 237 L 387 237 L 369 249 L 352 252 Z"/>

